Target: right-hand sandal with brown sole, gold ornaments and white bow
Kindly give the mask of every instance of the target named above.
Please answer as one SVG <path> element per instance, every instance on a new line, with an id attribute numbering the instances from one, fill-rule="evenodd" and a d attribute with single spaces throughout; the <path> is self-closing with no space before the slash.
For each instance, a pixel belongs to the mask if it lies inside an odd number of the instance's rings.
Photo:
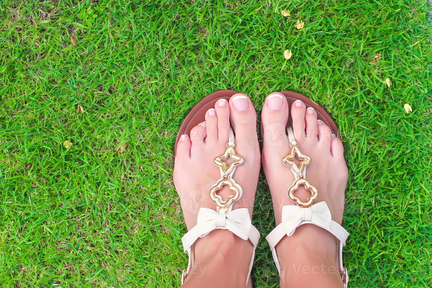
<path id="1" fill-rule="evenodd" d="M 294 91 L 282 91 L 280 93 L 285 95 L 289 107 L 291 107 L 291 104 L 295 100 L 302 100 L 307 107 L 314 108 L 317 112 L 318 119 L 327 123 L 327 125 L 330 126 L 332 133 L 340 138 L 340 133 L 337 129 L 336 123 L 323 107 L 313 103 L 312 100 L 305 95 Z M 262 125 L 260 130 L 262 137 L 264 135 L 264 128 Z M 345 241 L 346 238 L 348 238 L 349 233 L 346 232 L 341 225 L 331 219 L 331 213 L 326 202 L 314 203 L 318 198 L 318 190 L 309 183 L 308 180 L 306 180 L 306 167 L 311 163 L 312 159 L 300 151 L 298 144 L 295 141 L 291 117 L 287 123 L 286 134 L 288 135 L 291 152 L 281 160 L 285 166 L 291 169 L 291 172 L 295 177 L 294 182 L 288 188 L 287 195 L 289 200 L 297 204 L 297 206 L 286 205 L 282 207 L 282 223 L 277 225 L 276 228 L 266 237 L 273 254 L 274 262 L 276 263 L 277 271 L 280 274 L 280 263 L 276 255 L 276 245 L 285 235 L 291 236 L 295 232 L 295 229 L 300 225 L 311 223 L 326 229 L 339 240 L 337 247 L 338 271 L 342 277 L 344 287 L 346 288 L 348 285 L 348 273 L 346 268 L 343 268 L 342 247 L 345 246 Z M 293 161 L 294 158 L 297 158 L 300 161 L 299 166 L 297 166 L 297 163 Z M 306 190 L 311 192 L 311 196 L 309 196 L 305 202 L 294 195 L 294 192 L 299 189 L 300 185 L 303 185 Z"/>

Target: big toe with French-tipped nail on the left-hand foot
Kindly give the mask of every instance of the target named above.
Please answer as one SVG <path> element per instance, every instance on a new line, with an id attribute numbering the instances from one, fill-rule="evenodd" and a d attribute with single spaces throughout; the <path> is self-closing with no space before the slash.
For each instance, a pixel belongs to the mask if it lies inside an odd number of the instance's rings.
<path id="1" fill-rule="evenodd" d="M 249 143 L 257 140 L 257 113 L 249 97 L 239 93 L 232 95 L 229 100 L 229 109 L 229 118 L 235 137 Z"/>

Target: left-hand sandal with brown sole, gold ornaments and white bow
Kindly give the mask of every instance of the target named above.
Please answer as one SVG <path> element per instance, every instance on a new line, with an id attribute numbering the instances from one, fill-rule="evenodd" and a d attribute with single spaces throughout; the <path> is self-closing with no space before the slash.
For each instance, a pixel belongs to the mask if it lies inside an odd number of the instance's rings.
<path id="1" fill-rule="evenodd" d="M 175 139 L 175 149 L 181 135 L 190 135 L 191 129 L 199 123 L 205 121 L 205 114 L 207 110 L 214 107 L 214 104 L 219 99 L 229 101 L 232 95 L 237 92 L 232 90 L 221 90 L 213 92 L 212 94 L 204 97 L 192 110 L 187 114 L 186 118 L 180 126 L 177 138 Z M 194 243 L 198 238 L 204 237 L 215 229 L 226 229 L 237 235 L 238 237 L 251 241 L 254 246 L 251 261 L 249 263 L 248 277 L 245 279 L 245 285 L 248 285 L 251 275 L 252 264 L 254 262 L 255 248 L 257 247 L 258 240 L 260 239 L 260 232 L 252 225 L 247 208 L 240 208 L 232 210 L 232 206 L 237 202 L 242 195 L 240 185 L 238 185 L 232 178 L 235 169 L 243 164 L 247 159 L 243 159 L 240 155 L 235 153 L 234 131 L 230 127 L 229 141 L 226 144 L 226 150 L 222 155 L 219 155 L 213 160 L 213 163 L 219 167 L 220 179 L 210 188 L 209 197 L 216 203 L 216 211 L 209 208 L 200 208 L 198 212 L 197 225 L 189 230 L 181 241 L 183 242 L 184 252 L 189 255 L 187 269 L 183 270 L 181 275 L 181 284 L 183 284 L 187 275 L 191 271 L 192 263 L 194 261 Z M 227 164 L 225 161 L 231 158 L 232 162 Z M 226 200 L 223 200 L 216 192 L 222 189 L 223 186 L 228 186 L 233 192 Z"/>

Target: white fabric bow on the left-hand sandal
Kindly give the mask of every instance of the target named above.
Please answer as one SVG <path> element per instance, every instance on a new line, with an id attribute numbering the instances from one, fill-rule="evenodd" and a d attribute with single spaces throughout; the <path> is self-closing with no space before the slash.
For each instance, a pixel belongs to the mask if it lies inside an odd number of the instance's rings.
<path id="1" fill-rule="evenodd" d="M 195 227 L 199 227 L 199 237 L 204 237 L 214 229 L 219 228 L 228 229 L 241 239 L 248 240 L 251 225 L 251 217 L 247 208 L 235 209 L 228 213 L 200 208 Z"/>

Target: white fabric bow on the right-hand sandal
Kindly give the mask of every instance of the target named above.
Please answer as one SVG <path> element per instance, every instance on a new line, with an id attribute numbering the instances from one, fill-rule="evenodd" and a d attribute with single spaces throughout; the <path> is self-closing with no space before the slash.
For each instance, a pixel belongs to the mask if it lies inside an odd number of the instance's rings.
<path id="1" fill-rule="evenodd" d="M 291 236 L 297 227 L 305 223 L 313 223 L 329 230 L 331 214 L 327 203 L 319 202 L 307 208 L 297 205 L 286 205 L 282 208 L 282 224 L 285 227 L 286 235 Z"/>

